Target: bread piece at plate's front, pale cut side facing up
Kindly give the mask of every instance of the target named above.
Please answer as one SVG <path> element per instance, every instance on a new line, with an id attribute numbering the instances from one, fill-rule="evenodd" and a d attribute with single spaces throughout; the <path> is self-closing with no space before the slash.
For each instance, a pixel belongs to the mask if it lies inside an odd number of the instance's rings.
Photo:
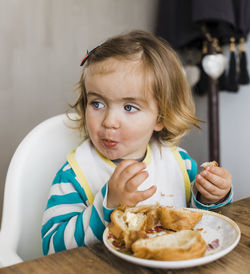
<path id="1" fill-rule="evenodd" d="M 132 244 L 133 255 L 152 260 L 187 260 L 204 256 L 206 242 L 199 231 L 182 230 L 154 238 L 139 239 Z"/>

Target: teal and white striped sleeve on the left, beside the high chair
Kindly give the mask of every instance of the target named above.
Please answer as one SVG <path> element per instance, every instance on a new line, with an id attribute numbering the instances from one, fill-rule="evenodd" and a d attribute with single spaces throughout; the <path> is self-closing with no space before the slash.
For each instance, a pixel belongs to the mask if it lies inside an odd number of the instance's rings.
<path id="1" fill-rule="evenodd" d="M 103 231 L 112 213 L 105 207 L 106 194 L 107 184 L 89 205 L 84 189 L 66 162 L 52 183 L 43 214 L 43 254 L 102 241 Z"/>

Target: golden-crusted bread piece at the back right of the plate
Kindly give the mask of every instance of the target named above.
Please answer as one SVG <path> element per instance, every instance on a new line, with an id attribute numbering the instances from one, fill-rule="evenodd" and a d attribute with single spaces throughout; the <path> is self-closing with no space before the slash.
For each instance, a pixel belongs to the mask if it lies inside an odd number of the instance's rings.
<path id="1" fill-rule="evenodd" d="M 165 229 L 180 231 L 193 229 L 202 218 L 202 213 L 178 207 L 160 207 L 160 223 Z"/>

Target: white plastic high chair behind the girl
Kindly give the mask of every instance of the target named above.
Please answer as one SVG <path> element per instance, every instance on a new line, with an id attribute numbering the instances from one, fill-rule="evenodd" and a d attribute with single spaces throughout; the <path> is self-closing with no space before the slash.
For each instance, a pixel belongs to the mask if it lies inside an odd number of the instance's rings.
<path id="1" fill-rule="evenodd" d="M 11 159 L 0 230 L 0 267 L 42 255 L 42 214 L 50 185 L 67 153 L 81 142 L 79 131 L 70 124 L 65 114 L 42 122 L 23 139 Z"/>

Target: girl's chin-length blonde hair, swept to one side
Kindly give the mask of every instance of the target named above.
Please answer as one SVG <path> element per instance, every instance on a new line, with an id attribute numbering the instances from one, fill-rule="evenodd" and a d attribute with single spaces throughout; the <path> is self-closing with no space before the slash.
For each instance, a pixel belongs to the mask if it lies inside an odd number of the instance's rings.
<path id="1" fill-rule="evenodd" d="M 148 80 L 151 85 L 149 88 L 153 91 L 158 105 L 158 121 L 162 123 L 163 129 L 154 132 L 154 136 L 158 140 L 178 144 L 193 126 L 199 128 L 192 92 L 175 51 L 166 41 L 145 31 L 132 31 L 112 37 L 90 52 L 78 83 L 79 97 L 71 106 L 80 117 L 77 120 L 78 128 L 87 132 L 85 122 L 86 69 L 107 58 L 130 60 L 133 56 L 137 58 L 140 56 L 146 76 L 150 79 Z"/>

